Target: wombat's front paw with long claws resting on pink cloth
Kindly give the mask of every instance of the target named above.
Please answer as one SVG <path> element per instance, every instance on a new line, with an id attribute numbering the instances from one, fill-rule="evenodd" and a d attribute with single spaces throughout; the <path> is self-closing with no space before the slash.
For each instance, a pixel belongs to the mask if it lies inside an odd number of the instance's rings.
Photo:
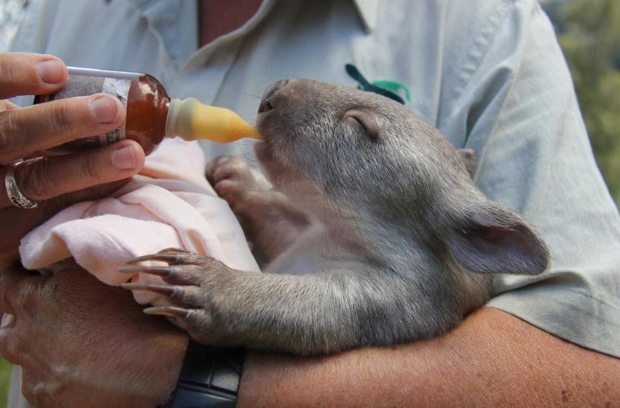
<path id="1" fill-rule="evenodd" d="M 226 279 L 227 274 L 235 271 L 212 257 L 174 249 L 137 257 L 127 263 L 137 264 L 146 261 L 167 262 L 168 266 L 137 265 L 119 268 L 123 273 L 156 275 L 167 283 L 121 285 L 124 289 L 160 294 L 171 304 L 171 306 L 147 307 L 144 313 L 174 317 L 194 340 L 224 346 L 226 333 L 223 332 L 223 325 L 216 324 L 213 319 L 213 288 L 226 284 L 222 280 Z"/>

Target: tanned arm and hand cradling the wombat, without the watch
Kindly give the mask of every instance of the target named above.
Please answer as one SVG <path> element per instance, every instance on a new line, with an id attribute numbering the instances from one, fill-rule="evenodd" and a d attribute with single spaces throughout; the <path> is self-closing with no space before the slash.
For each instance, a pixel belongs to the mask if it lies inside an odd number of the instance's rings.
<path id="1" fill-rule="evenodd" d="M 79 269 L 48 278 L 10 271 L 1 275 L 0 299 L 17 316 L 0 330 L 1 355 L 22 365 L 24 396 L 37 406 L 168 400 L 187 334 L 144 316 L 126 291 Z M 430 341 L 311 358 L 249 351 L 237 405 L 496 406 L 565 398 L 603 406 L 620 398 L 619 375 L 617 359 L 483 307 Z"/>

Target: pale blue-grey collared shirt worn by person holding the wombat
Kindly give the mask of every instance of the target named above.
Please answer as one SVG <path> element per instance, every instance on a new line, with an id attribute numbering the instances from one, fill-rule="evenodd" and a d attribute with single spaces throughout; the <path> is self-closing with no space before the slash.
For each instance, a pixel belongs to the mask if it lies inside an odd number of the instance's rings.
<path id="1" fill-rule="evenodd" d="M 620 218 L 553 28 L 535 0 L 265 0 L 198 49 L 195 1 L 31 0 L 12 44 L 68 65 L 143 71 L 171 96 L 253 118 L 274 80 L 408 87 L 408 107 L 479 156 L 474 180 L 546 239 L 551 271 L 498 276 L 488 306 L 620 357 Z M 197 50 L 197 51 L 196 51 Z M 251 143 L 204 144 L 208 157 Z"/>

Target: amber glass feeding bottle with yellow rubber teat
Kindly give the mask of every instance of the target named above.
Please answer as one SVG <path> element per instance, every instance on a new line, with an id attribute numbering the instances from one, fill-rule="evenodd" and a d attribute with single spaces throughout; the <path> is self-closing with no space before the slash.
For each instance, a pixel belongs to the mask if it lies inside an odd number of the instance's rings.
<path id="1" fill-rule="evenodd" d="M 208 139 L 219 143 L 242 137 L 260 139 L 255 128 L 235 112 L 203 105 L 194 98 L 170 99 L 156 78 L 137 72 L 69 67 L 67 85 L 53 94 L 35 96 L 35 103 L 99 92 L 116 96 L 125 106 L 124 124 L 102 135 L 62 144 L 53 151 L 80 151 L 132 139 L 149 154 L 164 137 Z"/>

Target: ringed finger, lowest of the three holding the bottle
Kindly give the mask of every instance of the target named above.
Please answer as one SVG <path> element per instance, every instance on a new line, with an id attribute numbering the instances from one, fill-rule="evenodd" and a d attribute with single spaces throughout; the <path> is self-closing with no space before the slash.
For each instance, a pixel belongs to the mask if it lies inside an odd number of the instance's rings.
<path id="1" fill-rule="evenodd" d="M 110 146 L 42 158 L 15 168 L 15 182 L 24 196 L 44 201 L 94 185 L 123 180 L 144 166 L 144 151 L 133 140 Z M 6 169 L 0 170 L 0 175 Z M 0 208 L 12 204 L 7 194 L 0 194 Z"/>

